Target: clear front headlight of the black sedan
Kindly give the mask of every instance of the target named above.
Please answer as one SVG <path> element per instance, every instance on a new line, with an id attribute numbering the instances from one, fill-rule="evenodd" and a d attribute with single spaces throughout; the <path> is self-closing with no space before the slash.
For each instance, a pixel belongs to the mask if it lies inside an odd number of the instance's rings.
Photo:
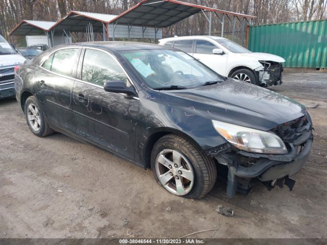
<path id="1" fill-rule="evenodd" d="M 273 133 L 212 121 L 216 131 L 240 150 L 265 154 L 287 153 L 283 140 Z"/>

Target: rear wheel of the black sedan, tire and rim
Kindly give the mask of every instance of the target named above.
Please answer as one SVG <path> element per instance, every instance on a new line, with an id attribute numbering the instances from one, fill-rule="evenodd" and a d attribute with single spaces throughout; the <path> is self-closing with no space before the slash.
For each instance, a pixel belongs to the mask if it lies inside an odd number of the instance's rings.
<path id="1" fill-rule="evenodd" d="M 33 134 L 44 137 L 55 132 L 49 127 L 48 119 L 34 96 L 28 97 L 25 102 L 25 116 L 27 125 Z"/>

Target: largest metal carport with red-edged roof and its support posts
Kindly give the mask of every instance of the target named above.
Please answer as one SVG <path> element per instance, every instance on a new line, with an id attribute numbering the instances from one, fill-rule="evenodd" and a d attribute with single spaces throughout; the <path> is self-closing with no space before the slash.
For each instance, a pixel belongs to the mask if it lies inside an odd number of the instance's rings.
<path id="1" fill-rule="evenodd" d="M 143 32 L 147 27 L 154 27 L 155 32 L 157 32 L 159 28 L 168 28 L 173 24 L 200 12 L 204 14 L 208 21 L 209 35 L 212 33 L 213 14 L 219 18 L 222 24 L 221 36 L 224 36 L 225 17 L 229 19 L 232 24 L 232 39 L 235 33 L 236 19 L 242 23 L 242 37 L 244 37 L 245 22 L 247 21 L 250 23 L 249 20 L 256 18 L 251 15 L 234 13 L 176 0 L 143 0 L 139 4 L 110 20 L 109 23 L 112 25 L 112 37 L 114 38 L 116 25 L 118 23 L 125 24 L 128 27 L 128 32 L 130 32 L 132 26 L 141 26 Z M 209 13 L 209 16 L 206 15 L 206 12 Z"/>

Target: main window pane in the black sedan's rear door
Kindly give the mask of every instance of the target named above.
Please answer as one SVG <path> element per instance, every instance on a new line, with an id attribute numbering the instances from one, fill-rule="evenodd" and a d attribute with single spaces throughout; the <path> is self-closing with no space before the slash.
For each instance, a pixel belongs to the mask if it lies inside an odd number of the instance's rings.
<path id="1" fill-rule="evenodd" d="M 75 67 L 78 55 L 79 48 L 65 48 L 55 52 L 51 71 L 68 77 L 75 77 L 74 73 L 76 72 Z"/>

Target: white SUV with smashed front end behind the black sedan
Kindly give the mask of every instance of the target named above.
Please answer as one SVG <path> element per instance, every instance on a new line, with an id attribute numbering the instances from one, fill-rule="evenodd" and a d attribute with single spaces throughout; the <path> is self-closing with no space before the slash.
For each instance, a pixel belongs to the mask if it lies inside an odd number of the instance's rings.
<path id="1" fill-rule="evenodd" d="M 285 59 L 272 54 L 252 53 L 226 38 L 171 37 L 160 39 L 159 45 L 184 51 L 226 77 L 266 87 L 282 84 Z"/>

